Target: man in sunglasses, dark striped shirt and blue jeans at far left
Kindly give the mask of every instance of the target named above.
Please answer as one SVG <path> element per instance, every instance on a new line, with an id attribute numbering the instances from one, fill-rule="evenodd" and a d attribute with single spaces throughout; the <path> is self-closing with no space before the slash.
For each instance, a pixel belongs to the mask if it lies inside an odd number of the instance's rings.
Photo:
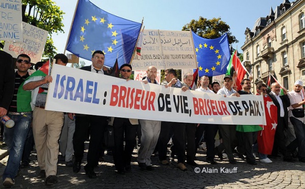
<path id="1" fill-rule="evenodd" d="M 8 109 L 8 116 L 15 121 L 15 125 L 12 128 L 4 127 L 4 139 L 5 143 L 9 147 L 9 160 L 6 169 L 3 173 L 3 185 L 14 185 L 15 176 L 18 173 L 20 161 L 22 157 L 24 142 L 27 136 L 27 132 L 31 127 L 32 122 L 32 108 L 31 99 L 27 102 L 22 98 L 17 98 L 19 86 L 23 85 L 24 80 L 29 76 L 27 70 L 31 67 L 31 58 L 26 54 L 20 54 L 17 57 L 15 73 L 15 90 L 13 99 Z M 22 89 L 20 89 L 22 90 Z M 31 92 L 28 92 L 31 96 Z M 27 105 L 27 106 L 26 106 Z"/>

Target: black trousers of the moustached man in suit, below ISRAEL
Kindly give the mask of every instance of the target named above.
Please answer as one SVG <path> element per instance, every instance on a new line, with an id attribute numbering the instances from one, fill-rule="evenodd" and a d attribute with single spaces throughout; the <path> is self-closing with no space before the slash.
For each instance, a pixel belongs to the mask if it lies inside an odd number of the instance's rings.
<path id="1" fill-rule="evenodd" d="M 107 117 L 97 115 L 76 116 L 75 132 L 73 135 L 73 149 L 76 162 L 81 162 L 84 154 L 84 142 L 90 127 L 90 142 L 87 154 L 87 167 L 93 169 L 99 162 L 101 146 L 104 140 Z"/>

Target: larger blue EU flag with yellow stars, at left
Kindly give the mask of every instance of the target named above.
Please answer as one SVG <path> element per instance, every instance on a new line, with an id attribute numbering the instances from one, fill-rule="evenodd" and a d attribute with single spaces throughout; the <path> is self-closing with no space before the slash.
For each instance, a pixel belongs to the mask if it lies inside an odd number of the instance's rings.
<path id="1" fill-rule="evenodd" d="M 129 64 L 140 33 L 141 23 L 117 17 L 79 0 L 68 40 L 67 50 L 91 60 L 96 50 L 105 53 L 105 66 Z"/>

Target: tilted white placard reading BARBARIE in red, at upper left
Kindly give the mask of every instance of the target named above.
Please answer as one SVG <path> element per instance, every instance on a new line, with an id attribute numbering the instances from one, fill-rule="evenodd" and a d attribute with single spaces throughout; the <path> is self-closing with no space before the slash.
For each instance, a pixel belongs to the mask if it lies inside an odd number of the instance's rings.
<path id="1" fill-rule="evenodd" d="M 19 54 L 27 54 L 31 57 L 31 62 L 36 64 L 41 60 L 48 31 L 25 22 L 22 22 L 22 28 L 23 41 L 6 41 L 3 50 L 14 58 L 17 58 Z"/>

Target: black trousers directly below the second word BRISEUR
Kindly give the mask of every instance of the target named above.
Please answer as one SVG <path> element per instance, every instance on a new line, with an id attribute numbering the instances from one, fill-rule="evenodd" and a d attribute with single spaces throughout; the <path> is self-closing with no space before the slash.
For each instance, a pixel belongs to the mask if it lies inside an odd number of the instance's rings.
<path id="1" fill-rule="evenodd" d="M 200 143 L 200 139 L 205 131 L 206 144 L 206 160 L 214 160 L 215 158 L 215 136 L 218 131 L 218 124 L 200 124 L 196 130 L 196 153 Z"/>

